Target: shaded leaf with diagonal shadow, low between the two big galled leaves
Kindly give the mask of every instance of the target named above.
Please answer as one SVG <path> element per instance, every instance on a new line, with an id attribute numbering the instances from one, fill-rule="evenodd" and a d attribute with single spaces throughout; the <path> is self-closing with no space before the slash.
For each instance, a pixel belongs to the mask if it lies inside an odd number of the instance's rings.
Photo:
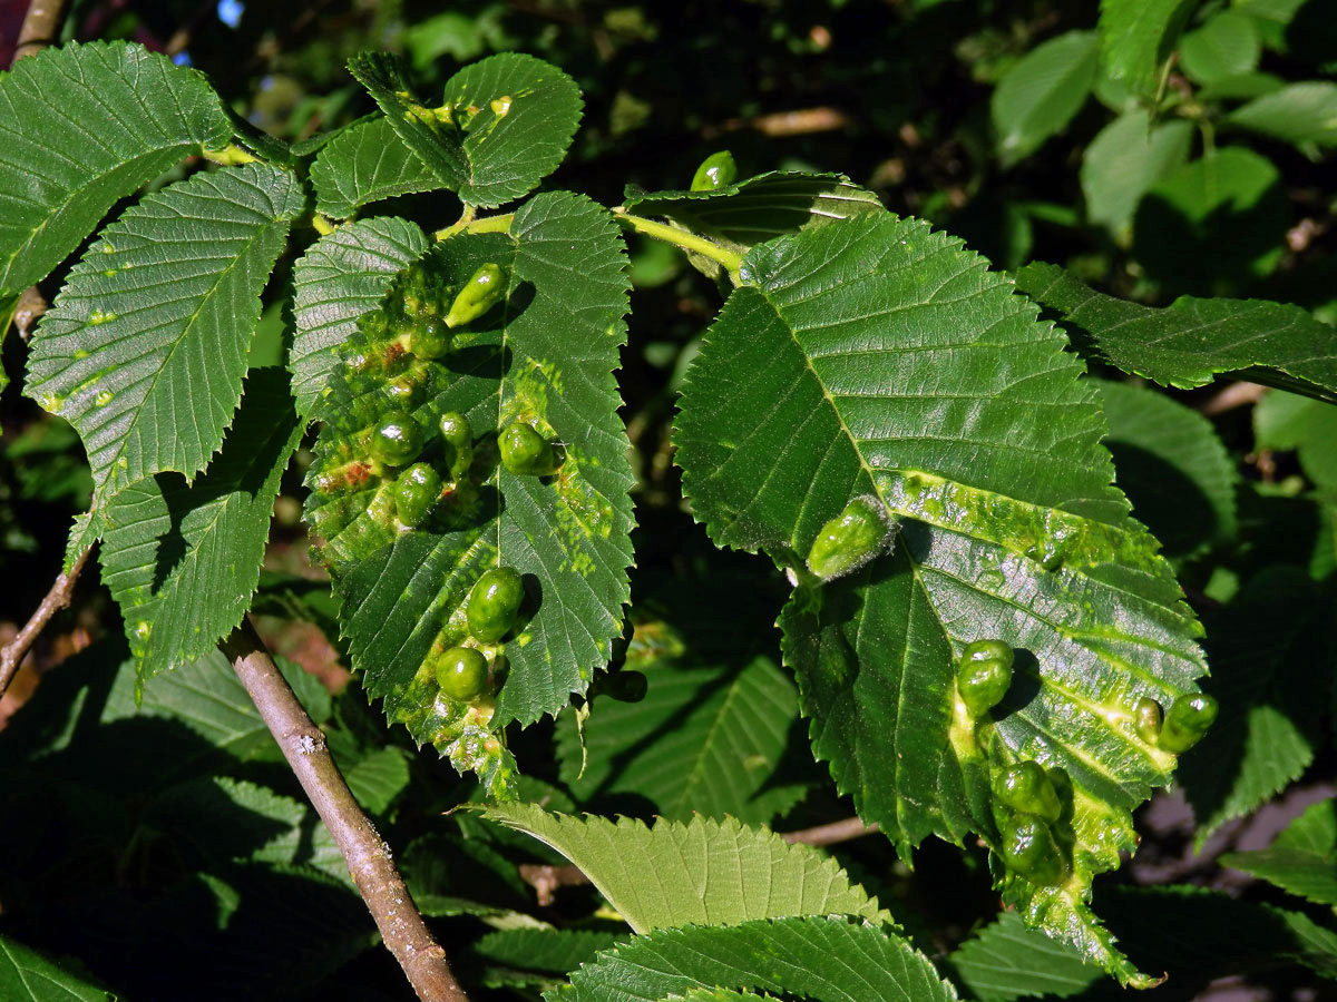
<path id="1" fill-rule="evenodd" d="M 709 600 L 730 601 L 722 589 L 707 595 L 685 611 L 701 619 L 677 620 L 686 636 L 671 623 L 638 625 L 624 671 L 644 673 L 644 699 L 596 697 L 583 728 L 572 715 L 559 719 L 560 775 L 582 802 L 634 794 L 671 820 L 731 815 L 757 824 L 804 795 L 801 784 L 775 776 L 798 717 L 794 683 L 766 653 L 741 656 L 747 627 L 737 608 L 727 636 L 702 636 L 697 624 L 709 621 Z M 770 620 L 759 621 L 758 635 Z"/>

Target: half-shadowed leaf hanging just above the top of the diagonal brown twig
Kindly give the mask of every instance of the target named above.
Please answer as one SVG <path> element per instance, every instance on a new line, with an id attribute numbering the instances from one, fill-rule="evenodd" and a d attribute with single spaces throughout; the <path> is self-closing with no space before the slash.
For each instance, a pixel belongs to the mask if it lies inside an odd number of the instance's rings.
<path id="1" fill-rule="evenodd" d="M 254 370 L 203 477 L 187 485 L 180 474 L 159 473 L 107 505 L 103 581 L 120 605 L 142 677 L 209 653 L 242 621 L 299 437 L 286 374 Z"/>

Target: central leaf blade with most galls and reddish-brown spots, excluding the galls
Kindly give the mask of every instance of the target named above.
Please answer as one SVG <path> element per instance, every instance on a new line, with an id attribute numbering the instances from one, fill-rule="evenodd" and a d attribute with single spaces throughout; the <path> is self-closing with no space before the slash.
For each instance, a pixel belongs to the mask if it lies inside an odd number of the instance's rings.
<path id="1" fill-rule="evenodd" d="M 318 405 L 325 425 L 306 514 L 325 541 L 340 624 L 368 692 L 417 741 L 504 795 L 515 764 L 500 744 L 501 725 L 533 723 L 584 692 L 622 632 L 632 477 L 612 370 L 626 338 L 628 282 L 611 216 L 566 192 L 525 203 L 508 232 L 451 236 L 416 267 L 437 283 L 441 310 L 489 262 L 508 278 L 505 297 L 456 329 L 437 359 L 405 350 L 404 331 L 382 330 L 380 313 L 362 318 Z M 372 430 L 405 409 L 424 433 L 418 458 L 448 481 L 416 528 L 396 516 L 397 468 L 378 466 L 369 452 Z M 472 460 L 459 477 L 440 430 L 452 411 L 473 432 Z M 497 432 L 515 421 L 559 445 L 554 474 L 501 466 Z M 487 645 L 505 659 L 492 663 L 495 705 L 443 699 L 429 656 L 468 641 L 469 591 L 495 566 L 517 570 L 525 591 L 515 629 Z"/>

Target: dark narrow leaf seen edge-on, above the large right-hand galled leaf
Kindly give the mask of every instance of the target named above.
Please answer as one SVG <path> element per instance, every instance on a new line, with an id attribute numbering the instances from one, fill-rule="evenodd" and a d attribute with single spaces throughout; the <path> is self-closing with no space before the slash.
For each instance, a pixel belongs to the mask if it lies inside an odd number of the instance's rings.
<path id="1" fill-rule="evenodd" d="M 711 191 L 628 191 L 623 208 L 667 219 L 737 254 L 796 230 L 885 211 L 877 195 L 842 174 L 792 171 Z"/>

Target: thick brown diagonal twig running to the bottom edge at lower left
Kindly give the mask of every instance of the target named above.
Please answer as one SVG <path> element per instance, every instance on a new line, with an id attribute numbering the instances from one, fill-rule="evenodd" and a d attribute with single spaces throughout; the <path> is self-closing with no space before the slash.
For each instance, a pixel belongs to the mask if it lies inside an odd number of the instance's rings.
<path id="1" fill-rule="evenodd" d="M 422 1002 L 467 1002 L 464 989 L 451 973 L 445 950 L 433 939 L 413 904 L 390 859 L 389 847 L 353 799 L 325 747 L 324 732 L 297 701 L 250 619 L 242 620 L 219 647 L 231 660 L 237 677 L 344 852 L 348 870 L 381 930 L 381 938 L 400 962 L 417 997 Z"/>

